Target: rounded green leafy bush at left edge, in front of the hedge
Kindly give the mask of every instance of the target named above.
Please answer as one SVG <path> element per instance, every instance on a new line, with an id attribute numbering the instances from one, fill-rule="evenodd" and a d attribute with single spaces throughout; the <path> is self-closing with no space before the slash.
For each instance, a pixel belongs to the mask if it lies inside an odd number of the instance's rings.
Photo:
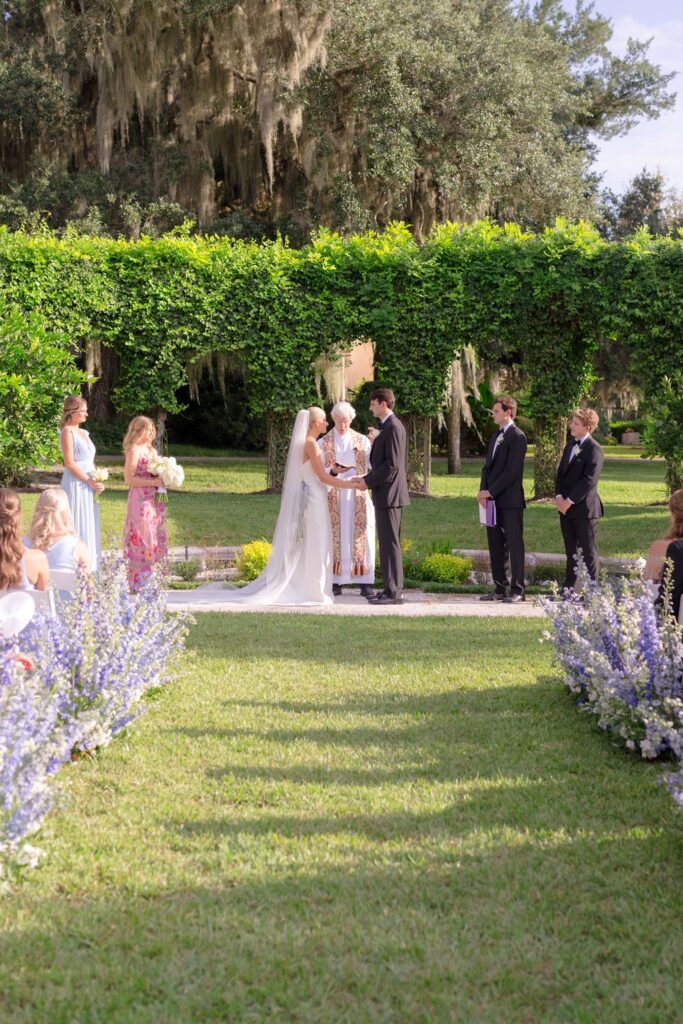
<path id="1" fill-rule="evenodd" d="M 62 334 L 38 313 L 0 304 L 1 485 L 22 483 L 27 467 L 58 459 L 61 403 L 86 380 Z"/>

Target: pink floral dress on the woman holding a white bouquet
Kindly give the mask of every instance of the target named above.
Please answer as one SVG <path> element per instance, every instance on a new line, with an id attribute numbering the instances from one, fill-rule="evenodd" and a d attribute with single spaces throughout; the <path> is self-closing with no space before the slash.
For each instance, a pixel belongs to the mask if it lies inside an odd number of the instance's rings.
<path id="1" fill-rule="evenodd" d="M 148 459 L 141 456 L 135 467 L 135 476 L 152 476 L 147 470 Z M 166 532 L 166 506 L 157 502 L 156 487 L 131 487 L 128 492 L 128 510 L 123 534 L 123 557 L 128 563 L 130 589 L 137 591 L 152 572 L 152 567 L 163 562 L 168 555 Z"/>

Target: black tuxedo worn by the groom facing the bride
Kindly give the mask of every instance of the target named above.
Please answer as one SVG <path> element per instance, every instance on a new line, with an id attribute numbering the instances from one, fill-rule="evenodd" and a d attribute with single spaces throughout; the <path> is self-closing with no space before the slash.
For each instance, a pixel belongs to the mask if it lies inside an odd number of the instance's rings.
<path id="1" fill-rule="evenodd" d="M 372 490 L 380 565 L 384 590 L 400 597 L 403 589 L 403 557 L 400 550 L 401 509 L 411 504 L 408 494 L 405 427 L 391 415 L 380 424 L 370 452 L 372 469 L 366 483 Z"/>

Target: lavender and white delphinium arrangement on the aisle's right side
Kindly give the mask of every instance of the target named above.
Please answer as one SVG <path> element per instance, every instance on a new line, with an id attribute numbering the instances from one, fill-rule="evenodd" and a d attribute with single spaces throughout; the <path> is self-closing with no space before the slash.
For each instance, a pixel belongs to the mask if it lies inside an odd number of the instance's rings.
<path id="1" fill-rule="evenodd" d="M 598 584 L 580 562 L 578 591 L 580 596 L 542 602 L 552 626 L 546 639 L 577 703 L 643 758 L 682 758 L 680 627 L 640 577 Z M 672 778 L 678 778 L 670 785 L 683 805 L 683 773 Z"/>

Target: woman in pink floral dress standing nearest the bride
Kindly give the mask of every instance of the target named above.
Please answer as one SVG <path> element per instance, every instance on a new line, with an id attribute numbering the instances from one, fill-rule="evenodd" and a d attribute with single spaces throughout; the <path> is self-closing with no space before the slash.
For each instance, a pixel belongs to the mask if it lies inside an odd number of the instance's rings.
<path id="1" fill-rule="evenodd" d="M 123 556 L 128 563 L 128 582 L 133 593 L 143 586 L 153 566 L 165 561 L 168 554 L 166 506 L 157 501 L 157 487 L 162 481 L 146 468 L 156 436 L 152 420 L 146 416 L 136 416 L 131 420 L 123 442 L 126 456 L 124 480 L 130 488 Z"/>

